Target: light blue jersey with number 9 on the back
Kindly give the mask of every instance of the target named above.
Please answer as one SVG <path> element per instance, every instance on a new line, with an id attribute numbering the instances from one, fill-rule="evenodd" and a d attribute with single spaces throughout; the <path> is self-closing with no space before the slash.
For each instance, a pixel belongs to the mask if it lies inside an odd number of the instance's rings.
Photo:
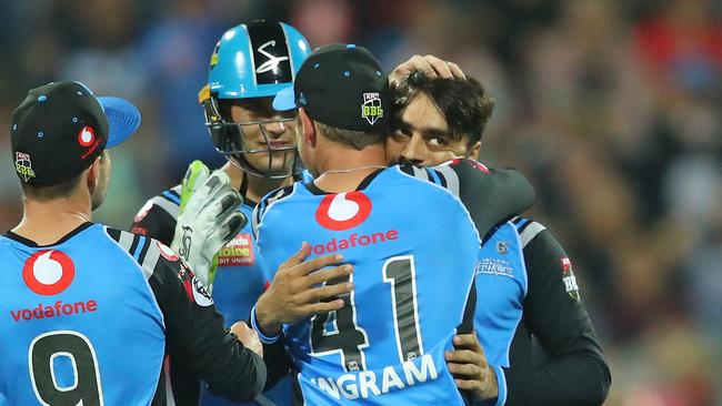
<path id="1" fill-rule="evenodd" d="M 0 405 L 151 403 L 166 327 L 148 245 L 131 255 L 92 223 L 48 246 L 0 236 Z"/>

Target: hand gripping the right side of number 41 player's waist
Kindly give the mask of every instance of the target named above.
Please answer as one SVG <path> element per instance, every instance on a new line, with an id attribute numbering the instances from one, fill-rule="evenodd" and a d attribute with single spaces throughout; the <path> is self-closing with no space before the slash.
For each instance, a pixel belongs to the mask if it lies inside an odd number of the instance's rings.
<path id="1" fill-rule="evenodd" d="M 459 334 L 453 339 L 454 351 L 445 352 L 449 372 L 459 389 L 471 390 L 477 400 L 499 396 L 494 368 L 487 363 L 487 355 L 475 334 Z"/>

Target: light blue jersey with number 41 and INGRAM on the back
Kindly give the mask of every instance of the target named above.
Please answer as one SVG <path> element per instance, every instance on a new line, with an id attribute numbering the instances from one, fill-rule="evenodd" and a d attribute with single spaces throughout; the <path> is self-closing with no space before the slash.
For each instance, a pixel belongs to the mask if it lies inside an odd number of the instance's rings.
<path id="1" fill-rule="evenodd" d="M 398 166 L 361 191 L 315 193 L 297 182 L 257 215 L 269 270 L 303 241 L 313 256 L 340 253 L 355 268 L 342 309 L 284 326 L 305 404 L 462 405 L 443 353 L 480 241 L 461 201 Z"/>

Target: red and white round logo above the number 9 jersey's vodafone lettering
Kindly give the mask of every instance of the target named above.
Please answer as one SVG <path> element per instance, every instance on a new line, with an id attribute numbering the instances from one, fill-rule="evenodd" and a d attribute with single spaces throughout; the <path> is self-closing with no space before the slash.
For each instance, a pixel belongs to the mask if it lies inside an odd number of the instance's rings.
<path id="1" fill-rule="evenodd" d="M 76 265 L 70 256 L 58 250 L 43 250 L 32 254 L 22 268 L 22 280 L 39 295 L 57 295 L 76 277 Z"/>

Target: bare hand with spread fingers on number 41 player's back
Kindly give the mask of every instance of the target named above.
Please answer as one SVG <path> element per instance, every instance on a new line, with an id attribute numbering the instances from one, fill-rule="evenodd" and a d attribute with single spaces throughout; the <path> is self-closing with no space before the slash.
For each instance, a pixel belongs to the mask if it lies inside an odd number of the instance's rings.
<path id="1" fill-rule="evenodd" d="M 344 302 L 339 296 L 353 290 L 353 283 L 348 282 L 353 266 L 339 265 L 343 261 L 339 254 L 307 262 L 309 255 L 311 245 L 303 243 L 301 250 L 279 267 L 271 285 L 259 297 L 255 321 L 264 333 L 277 335 L 283 323 L 295 323 L 315 313 L 343 307 Z M 334 280 L 342 282 L 333 284 Z M 331 283 L 325 284 L 329 281 Z"/>

